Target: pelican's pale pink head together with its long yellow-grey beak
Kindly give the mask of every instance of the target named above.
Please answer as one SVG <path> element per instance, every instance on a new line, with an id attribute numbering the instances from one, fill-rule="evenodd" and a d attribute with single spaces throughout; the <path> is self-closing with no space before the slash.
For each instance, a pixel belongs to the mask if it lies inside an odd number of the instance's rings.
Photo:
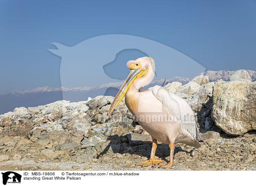
<path id="1" fill-rule="evenodd" d="M 137 58 L 136 60 L 130 60 L 127 62 L 126 65 L 128 69 L 131 70 L 131 72 L 125 79 L 118 93 L 116 94 L 116 97 L 113 100 L 110 109 L 108 110 L 108 113 L 107 113 L 108 116 L 122 101 L 123 97 L 125 96 L 126 92 L 128 91 L 129 87 L 131 86 L 131 84 L 135 79 L 145 76 L 149 70 L 150 72 L 153 72 L 153 74 L 155 71 L 154 59 L 150 57 L 142 57 L 142 58 Z"/>

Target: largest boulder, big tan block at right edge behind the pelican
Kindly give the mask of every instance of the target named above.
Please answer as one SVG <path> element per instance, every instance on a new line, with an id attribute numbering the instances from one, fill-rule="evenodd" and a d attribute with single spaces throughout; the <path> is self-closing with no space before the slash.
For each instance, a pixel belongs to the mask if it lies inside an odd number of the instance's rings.
<path id="1" fill-rule="evenodd" d="M 256 129 L 256 82 L 228 81 L 213 86 L 211 117 L 231 135 Z"/>

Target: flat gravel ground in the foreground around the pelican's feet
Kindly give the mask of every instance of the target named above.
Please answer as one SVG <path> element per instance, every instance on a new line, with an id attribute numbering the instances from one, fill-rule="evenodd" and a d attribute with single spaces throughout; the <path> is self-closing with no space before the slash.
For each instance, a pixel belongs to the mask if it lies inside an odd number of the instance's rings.
<path id="1" fill-rule="evenodd" d="M 256 170 L 256 133 L 250 132 L 243 137 L 220 137 L 217 132 L 207 132 L 202 135 L 205 139 L 201 142 L 201 148 L 177 144 L 175 147 L 175 163 L 172 168 L 159 169 L 154 167 L 139 167 L 135 163 L 148 159 L 151 148 L 150 141 L 140 145 L 130 145 L 130 153 L 98 153 L 98 156 L 91 157 L 88 148 L 73 148 L 60 158 L 53 158 L 51 155 L 40 153 L 51 151 L 45 148 L 35 147 L 35 143 L 25 145 L 23 148 L 6 147 L 14 143 L 6 143 L 1 146 L 1 151 L 6 153 L 0 155 L 0 160 L 8 158 L 0 163 L 1 170 Z M 17 140 L 18 139 L 18 140 Z M 23 141 L 17 138 L 17 141 Z M 12 148 L 12 153 L 8 149 Z M 146 148 L 147 150 L 142 150 Z M 92 150 L 92 149 L 91 149 Z M 29 153 L 32 152 L 32 153 Z M 71 153 L 70 153 L 71 152 Z M 143 155 L 144 153 L 144 155 Z M 38 156 L 37 156 L 38 155 Z M 168 162 L 169 148 L 166 144 L 159 144 L 156 151 L 157 159 Z M 8 156 L 8 157 L 4 157 Z M 15 158 L 20 160 L 13 160 Z M 56 156 L 56 154 L 54 154 Z"/>

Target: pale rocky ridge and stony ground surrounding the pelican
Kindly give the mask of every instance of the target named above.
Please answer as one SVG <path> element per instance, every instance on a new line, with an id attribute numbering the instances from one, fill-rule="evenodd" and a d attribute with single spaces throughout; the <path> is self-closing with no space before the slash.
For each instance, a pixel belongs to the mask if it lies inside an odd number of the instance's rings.
<path id="1" fill-rule="evenodd" d="M 204 139 L 198 149 L 175 145 L 175 164 L 170 170 L 256 170 L 256 128 L 252 118 L 255 82 L 243 81 L 247 76 L 239 74 L 227 82 L 209 82 L 209 77 L 202 75 L 183 86 L 179 82 L 165 86 L 189 103 Z M 232 84 L 237 87 L 233 92 L 226 88 L 232 88 Z M 239 92 L 241 89 L 244 93 Z M 230 93 L 234 96 L 225 96 Z M 239 98 L 243 95 L 239 103 L 244 109 L 230 105 L 233 99 L 237 100 L 236 93 Z M 0 115 L 1 169 L 156 170 L 134 166 L 149 158 L 151 137 L 134 120 L 123 100 L 107 117 L 112 102 L 112 96 L 97 96 L 83 102 L 62 100 L 15 108 Z M 233 108 L 251 113 L 246 117 L 233 112 Z M 246 130 L 231 136 L 220 125 L 221 121 L 238 116 L 240 126 Z M 232 122 L 225 123 L 231 126 Z M 156 156 L 168 161 L 168 145 L 159 143 Z"/>

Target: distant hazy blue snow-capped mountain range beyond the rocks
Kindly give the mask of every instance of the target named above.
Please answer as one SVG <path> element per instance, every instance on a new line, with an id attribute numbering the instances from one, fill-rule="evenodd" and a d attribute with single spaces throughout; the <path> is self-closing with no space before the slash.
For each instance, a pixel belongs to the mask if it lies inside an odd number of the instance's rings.
<path id="1" fill-rule="evenodd" d="M 228 81 L 229 77 L 236 71 L 220 70 L 220 71 L 206 71 L 205 76 L 209 76 L 210 81 L 216 81 L 218 79 L 223 79 Z M 252 81 L 256 80 L 256 71 L 247 70 L 250 74 Z M 200 74 L 200 75 L 201 75 Z M 186 84 L 191 81 L 192 78 L 186 77 L 173 77 L 166 79 L 158 79 L 152 81 L 151 84 L 147 86 L 152 87 L 154 85 L 165 85 L 173 81 L 179 81 L 182 84 Z M 65 99 L 70 100 L 70 102 L 78 102 L 87 100 L 88 97 L 96 97 L 99 95 L 105 96 L 115 96 L 122 82 L 101 84 L 99 86 L 93 87 L 37 87 L 32 90 L 23 91 L 13 91 L 10 93 L 0 94 L 0 114 L 6 113 L 8 111 L 13 111 L 16 107 L 35 107 L 38 105 L 46 105 L 57 100 Z"/>

